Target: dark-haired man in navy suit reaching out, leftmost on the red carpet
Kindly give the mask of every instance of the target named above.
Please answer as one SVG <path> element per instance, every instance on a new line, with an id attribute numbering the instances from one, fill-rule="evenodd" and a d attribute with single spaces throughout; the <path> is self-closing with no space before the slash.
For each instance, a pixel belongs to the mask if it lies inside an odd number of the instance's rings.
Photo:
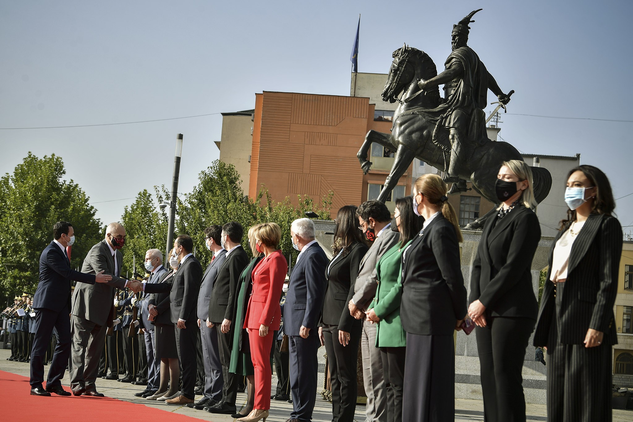
<path id="1" fill-rule="evenodd" d="M 40 256 L 39 283 L 33 301 L 35 337 L 31 351 L 31 395 L 70 395 L 61 387 L 61 378 L 70 357 L 70 280 L 94 284 L 112 279 L 111 275 L 103 274 L 103 271 L 85 274 L 70 268 L 66 246 L 75 242 L 75 235 L 68 221 L 55 223 L 53 238 L 53 242 Z M 44 355 L 53 330 L 57 345 L 44 390 Z"/>

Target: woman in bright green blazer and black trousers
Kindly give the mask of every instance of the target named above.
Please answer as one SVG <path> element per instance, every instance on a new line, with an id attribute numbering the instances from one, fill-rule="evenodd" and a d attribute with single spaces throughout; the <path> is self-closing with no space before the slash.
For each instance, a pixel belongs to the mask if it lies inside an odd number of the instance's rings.
<path id="1" fill-rule="evenodd" d="M 413 213 L 413 197 L 396 199 L 396 211 L 391 230 L 400 232 L 400 241 L 385 252 L 376 264 L 378 289 L 367 320 L 377 323 L 376 347 L 380 347 L 382 369 L 387 387 L 387 422 L 402 421 L 402 392 L 404 382 L 404 356 L 406 332 L 400 322 L 402 294 L 402 253 L 413 242 L 423 218 Z"/>

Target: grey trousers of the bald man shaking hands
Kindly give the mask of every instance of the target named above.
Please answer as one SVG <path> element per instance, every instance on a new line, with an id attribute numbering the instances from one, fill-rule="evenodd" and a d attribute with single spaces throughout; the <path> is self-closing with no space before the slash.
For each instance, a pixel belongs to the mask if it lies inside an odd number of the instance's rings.
<path id="1" fill-rule="evenodd" d="M 72 331 L 72 347 L 70 358 L 72 368 L 70 368 L 70 387 L 74 390 L 77 387 L 94 391 L 99 369 L 99 358 L 106 341 L 108 326 L 96 325 L 89 320 L 73 315 L 70 321 Z"/>

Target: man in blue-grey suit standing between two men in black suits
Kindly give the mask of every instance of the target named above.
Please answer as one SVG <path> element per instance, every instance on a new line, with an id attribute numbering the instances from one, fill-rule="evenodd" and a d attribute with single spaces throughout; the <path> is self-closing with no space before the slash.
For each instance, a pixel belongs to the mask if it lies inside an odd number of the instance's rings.
<path id="1" fill-rule="evenodd" d="M 204 229 L 204 242 L 207 249 L 213 252 L 213 258 L 207 266 L 200 285 L 197 301 L 197 325 L 200 327 L 202 343 L 202 356 L 204 363 L 204 395 L 196 403 L 189 403 L 187 407 L 204 409 L 214 406 L 222 400 L 222 364 L 220 364 L 220 351 L 218 349 L 218 328 L 207 322 L 209 318 L 209 301 L 213 292 L 213 281 L 222 268 L 227 255 L 222 247 L 222 226 L 213 225 Z"/>

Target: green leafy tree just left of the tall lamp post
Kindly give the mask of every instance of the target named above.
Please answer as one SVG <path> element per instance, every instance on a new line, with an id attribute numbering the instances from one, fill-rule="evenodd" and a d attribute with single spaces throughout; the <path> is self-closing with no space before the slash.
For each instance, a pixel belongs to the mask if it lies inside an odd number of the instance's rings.
<path id="1" fill-rule="evenodd" d="M 139 192 L 134 204 L 123 209 L 121 223 L 125 227 L 125 246 L 121 249 L 123 275 L 128 271 L 132 278 L 134 271 L 141 275 L 146 273 L 144 260 L 148 249 L 160 249 L 164 263 L 167 218 L 165 213 L 156 210 L 156 202 L 146 189 Z M 132 265 L 134 261 L 135 267 Z"/>

